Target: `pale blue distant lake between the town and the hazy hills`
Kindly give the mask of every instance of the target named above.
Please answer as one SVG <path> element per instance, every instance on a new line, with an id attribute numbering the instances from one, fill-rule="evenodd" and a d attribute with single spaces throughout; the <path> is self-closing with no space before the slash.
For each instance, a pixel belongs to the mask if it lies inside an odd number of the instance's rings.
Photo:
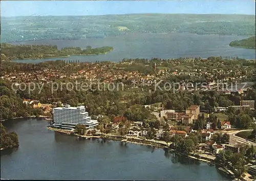
<path id="1" fill-rule="evenodd" d="M 190 33 L 127 33 L 125 35 L 108 36 L 106 38 L 80 40 L 36 40 L 20 41 L 14 44 L 52 44 L 59 49 L 63 47 L 86 46 L 93 48 L 102 46 L 114 47 L 114 51 L 104 55 L 71 56 L 67 58 L 47 58 L 35 60 L 19 60 L 20 62 L 42 62 L 47 60 L 79 60 L 79 61 L 121 61 L 123 58 L 179 58 L 209 56 L 233 56 L 245 59 L 255 59 L 255 50 L 230 47 L 229 42 L 248 36 L 235 35 L 197 35 Z"/>

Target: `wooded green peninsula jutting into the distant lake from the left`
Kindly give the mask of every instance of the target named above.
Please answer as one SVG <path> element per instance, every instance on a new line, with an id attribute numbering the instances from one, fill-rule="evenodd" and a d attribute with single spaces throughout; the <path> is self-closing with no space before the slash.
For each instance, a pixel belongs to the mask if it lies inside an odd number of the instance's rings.
<path id="1" fill-rule="evenodd" d="M 2 43 L 1 49 L 1 60 L 69 57 L 71 55 L 100 55 L 114 50 L 113 47 L 93 49 L 91 46 L 87 46 L 84 50 L 80 47 L 66 47 L 58 50 L 57 46 L 13 45 L 8 43 Z"/>

